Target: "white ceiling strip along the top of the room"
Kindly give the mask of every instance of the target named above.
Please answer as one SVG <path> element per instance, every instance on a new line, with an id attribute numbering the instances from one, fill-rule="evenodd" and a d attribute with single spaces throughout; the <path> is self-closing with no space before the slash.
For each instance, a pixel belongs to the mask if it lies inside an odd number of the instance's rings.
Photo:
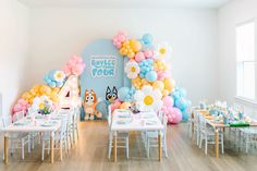
<path id="1" fill-rule="evenodd" d="M 218 9 L 231 0 L 19 0 L 30 8 Z"/>

